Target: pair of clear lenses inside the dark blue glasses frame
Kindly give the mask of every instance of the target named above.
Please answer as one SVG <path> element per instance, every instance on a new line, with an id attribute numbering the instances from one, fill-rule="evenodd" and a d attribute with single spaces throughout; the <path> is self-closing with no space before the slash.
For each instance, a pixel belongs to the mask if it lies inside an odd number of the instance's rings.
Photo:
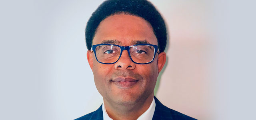
<path id="1" fill-rule="evenodd" d="M 113 45 L 100 45 L 95 52 L 99 62 L 113 63 L 118 60 L 121 49 Z M 151 62 L 155 54 L 154 47 L 149 45 L 132 46 L 129 52 L 132 60 L 137 63 Z"/>

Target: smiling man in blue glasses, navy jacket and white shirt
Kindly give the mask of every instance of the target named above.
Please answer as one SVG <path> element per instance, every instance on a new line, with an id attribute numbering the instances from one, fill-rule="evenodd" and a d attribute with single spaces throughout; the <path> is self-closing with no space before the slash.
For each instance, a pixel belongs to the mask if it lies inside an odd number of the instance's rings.
<path id="1" fill-rule="evenodd" d="M 194 120 L 154 97 L 166 62 L 166 26 L 150 2 L 103 2 L 87 23 L 86 45 L 104 102 L 76 120 Z"/>

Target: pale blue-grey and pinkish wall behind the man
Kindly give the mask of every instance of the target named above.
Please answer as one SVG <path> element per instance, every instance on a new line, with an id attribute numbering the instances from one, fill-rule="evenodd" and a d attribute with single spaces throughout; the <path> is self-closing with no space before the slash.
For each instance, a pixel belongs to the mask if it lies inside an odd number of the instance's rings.
<path id="1" fill-rule="evenodd" d="M 73 120 L 102 104 L 84 38 L 102 1 L 0 2 L 1 120 Z M 150 1 L 169 34 L 156 97 L 200 120 L 253 119 L 255 3 Z"/>

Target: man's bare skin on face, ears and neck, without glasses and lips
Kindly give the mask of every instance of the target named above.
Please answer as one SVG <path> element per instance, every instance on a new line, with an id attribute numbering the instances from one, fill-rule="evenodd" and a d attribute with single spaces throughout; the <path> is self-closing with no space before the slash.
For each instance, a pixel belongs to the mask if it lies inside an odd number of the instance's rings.
<path id="1" fill-rule="evenodd" d="M 92 44 L 112 43 L 131 46 L 136 42 L 158 45 L 152 26 L 143 18 L 118 14 L 104 19 L 94 36 Z M 152 103 L 154 87 L 159 72 L 166 62 L 166 53 L 156 54 L 150 64 L 135 64 L 128 52 L 123 51 L 115 64 L 99 63 L 88 50 L 88 62 L 94 74 L 97 90 L 103 96 L 106 111 L 113 120 L 136 120 Z M 137 80 L 126 88 L 114 84 L 115 78 Z"/>

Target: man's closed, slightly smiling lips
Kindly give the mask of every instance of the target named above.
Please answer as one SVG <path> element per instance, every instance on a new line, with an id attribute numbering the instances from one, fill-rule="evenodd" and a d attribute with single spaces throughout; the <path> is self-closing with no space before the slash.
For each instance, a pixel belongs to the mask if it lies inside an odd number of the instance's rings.
<path id="1" fill-rule="evenodd" d="M 115 78 L 112 80 L 112 82 L 118 86 L 118 88 L 131 88 L 136 83 L 138 83 L 139 80 L 133 79 L 133 78 Z"/>

